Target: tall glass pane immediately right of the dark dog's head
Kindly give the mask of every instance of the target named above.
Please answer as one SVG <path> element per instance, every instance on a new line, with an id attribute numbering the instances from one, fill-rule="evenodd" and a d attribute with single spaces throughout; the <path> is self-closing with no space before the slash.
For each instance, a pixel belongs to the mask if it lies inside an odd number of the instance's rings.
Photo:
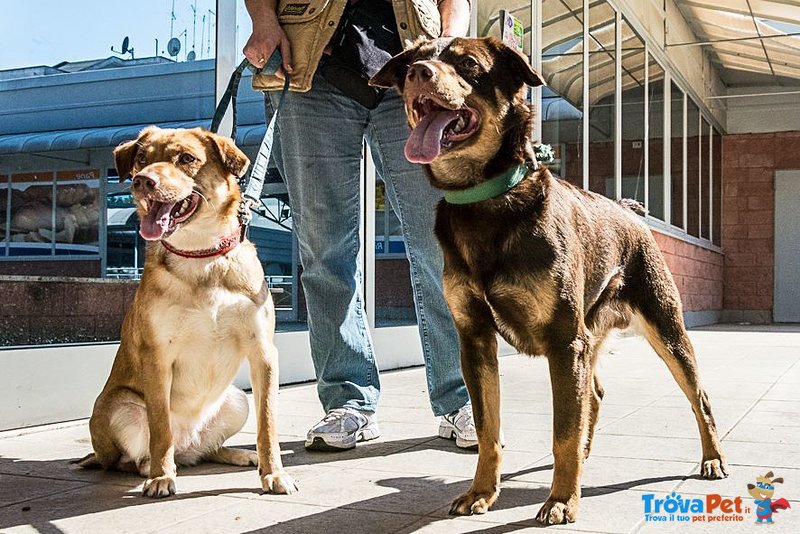
<path id="1" fill-rule="evenodd" d="M 542 142 L 550 169 L 583 185 L 583 2 L 542 1 Z"/>

